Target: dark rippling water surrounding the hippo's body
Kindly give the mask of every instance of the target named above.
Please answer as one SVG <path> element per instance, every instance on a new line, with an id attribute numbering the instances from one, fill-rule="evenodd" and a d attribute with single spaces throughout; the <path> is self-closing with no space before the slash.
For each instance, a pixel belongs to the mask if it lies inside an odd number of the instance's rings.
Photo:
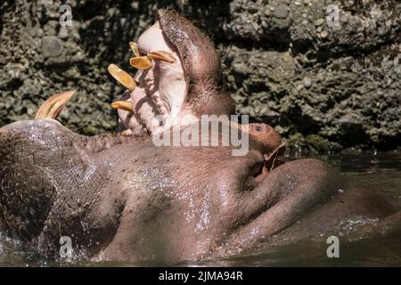
<path id="1" fill-rule="evenodd" d="M 301 157 L 292 157 L 299 159 Z M 351 181 L 380 193 L 401 209 L 401 152 L 361 152 L 316 156 L 340 170 Z M 401 238 L 369 240 L 340 247 L 340 258 L 326 256 L 327 244 L 301 242 L 291 246 L 270 247 L 246 256 L 190 262 L 184 266 L 401 266 Z M 85 260 L 49 264 L 40 256 L 21 249 L 20 242 L 0 233 L 0 266 L 143 266 L 158 263 L 92 263 Z"/>

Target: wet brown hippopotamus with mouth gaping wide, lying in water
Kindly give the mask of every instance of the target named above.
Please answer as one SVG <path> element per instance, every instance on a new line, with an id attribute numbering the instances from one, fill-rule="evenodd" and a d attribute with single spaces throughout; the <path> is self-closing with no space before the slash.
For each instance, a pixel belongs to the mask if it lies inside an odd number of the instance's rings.
<path id="1" fill-rule="evenodd" d="M 285 162 L 272 126 L 230 120 L 248 138 L 241 155 L 231 142 L 155 145 L 202 116 L 228 118 L 233 99 L 209 38 L 178 13 L 158 10 L 130 45 L 135 77 L 109 67 L 127 87 L 112 103 L 119 133 L 62 126 L 55 118 L 73 92 L 51 97 L 35 119 L 0 128 L 3 231 L 48 258 L 59 258 L 61 237 L 70 237 L 79 256 L 126 262 L 233 256 L 330 235 L 401 236 L 401 212 L 385 199 L 323 161 Z M 212 136 L 220 142 L 223 128 Z M 341 222 L 356 219 L 371 222 L 341 232 Z"/>

